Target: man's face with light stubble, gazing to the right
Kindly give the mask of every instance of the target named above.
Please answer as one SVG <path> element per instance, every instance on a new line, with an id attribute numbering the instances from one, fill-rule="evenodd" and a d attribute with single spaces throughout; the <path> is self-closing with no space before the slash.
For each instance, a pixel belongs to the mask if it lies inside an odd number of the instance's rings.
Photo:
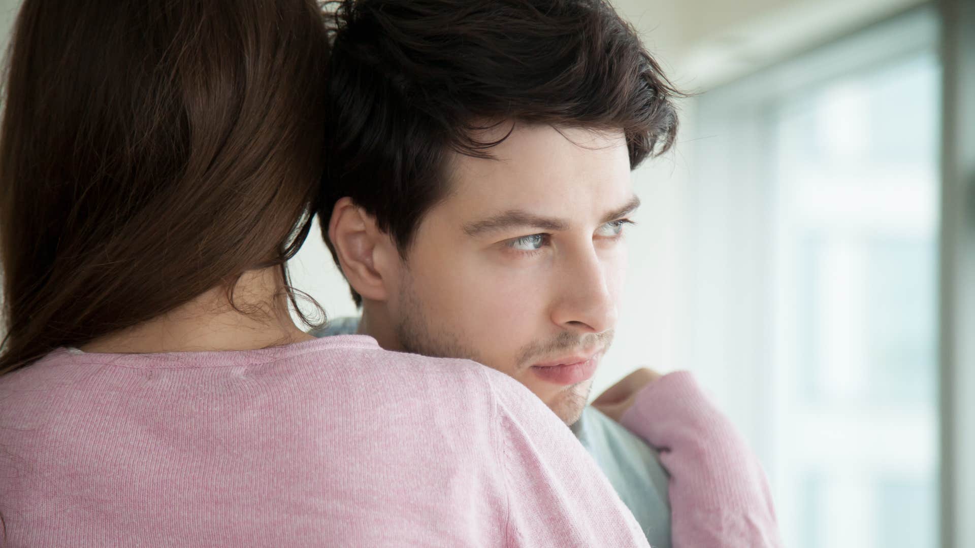
<path id="1" fill-rule="evenodd" d="M 518 125 L 491 153 L 453 158 L 386 313 L 403 349 L 505 372 L 571 424 L 616 323 L 637 206 L 626 142 Z"/>

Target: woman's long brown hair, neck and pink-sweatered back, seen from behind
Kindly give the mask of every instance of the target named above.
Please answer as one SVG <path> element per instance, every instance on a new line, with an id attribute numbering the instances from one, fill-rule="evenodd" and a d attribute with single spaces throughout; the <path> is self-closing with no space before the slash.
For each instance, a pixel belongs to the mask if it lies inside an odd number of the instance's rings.
<path id="1" fill-rule="evenodd" d="M 513 379 L 315 340 L 311 0 L 26 0 L 0 135 L 9 546 L 645 546 Z"/>

